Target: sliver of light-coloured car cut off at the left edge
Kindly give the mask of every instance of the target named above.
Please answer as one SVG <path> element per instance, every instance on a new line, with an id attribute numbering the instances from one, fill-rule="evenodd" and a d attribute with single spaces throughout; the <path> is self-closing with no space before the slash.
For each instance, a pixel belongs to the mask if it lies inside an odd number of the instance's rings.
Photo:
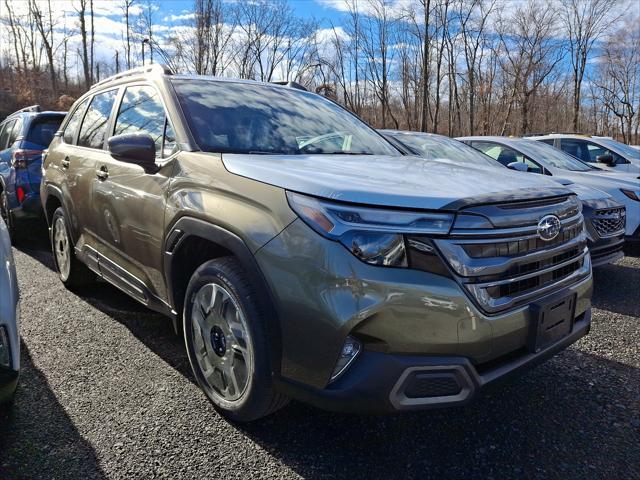
<path id="1" fill-rule="evenodd" d="M 19 295 L 11 241 L 0 218 L 0 404 L 10 402 L 18 385 L 20 337 Z"/>

